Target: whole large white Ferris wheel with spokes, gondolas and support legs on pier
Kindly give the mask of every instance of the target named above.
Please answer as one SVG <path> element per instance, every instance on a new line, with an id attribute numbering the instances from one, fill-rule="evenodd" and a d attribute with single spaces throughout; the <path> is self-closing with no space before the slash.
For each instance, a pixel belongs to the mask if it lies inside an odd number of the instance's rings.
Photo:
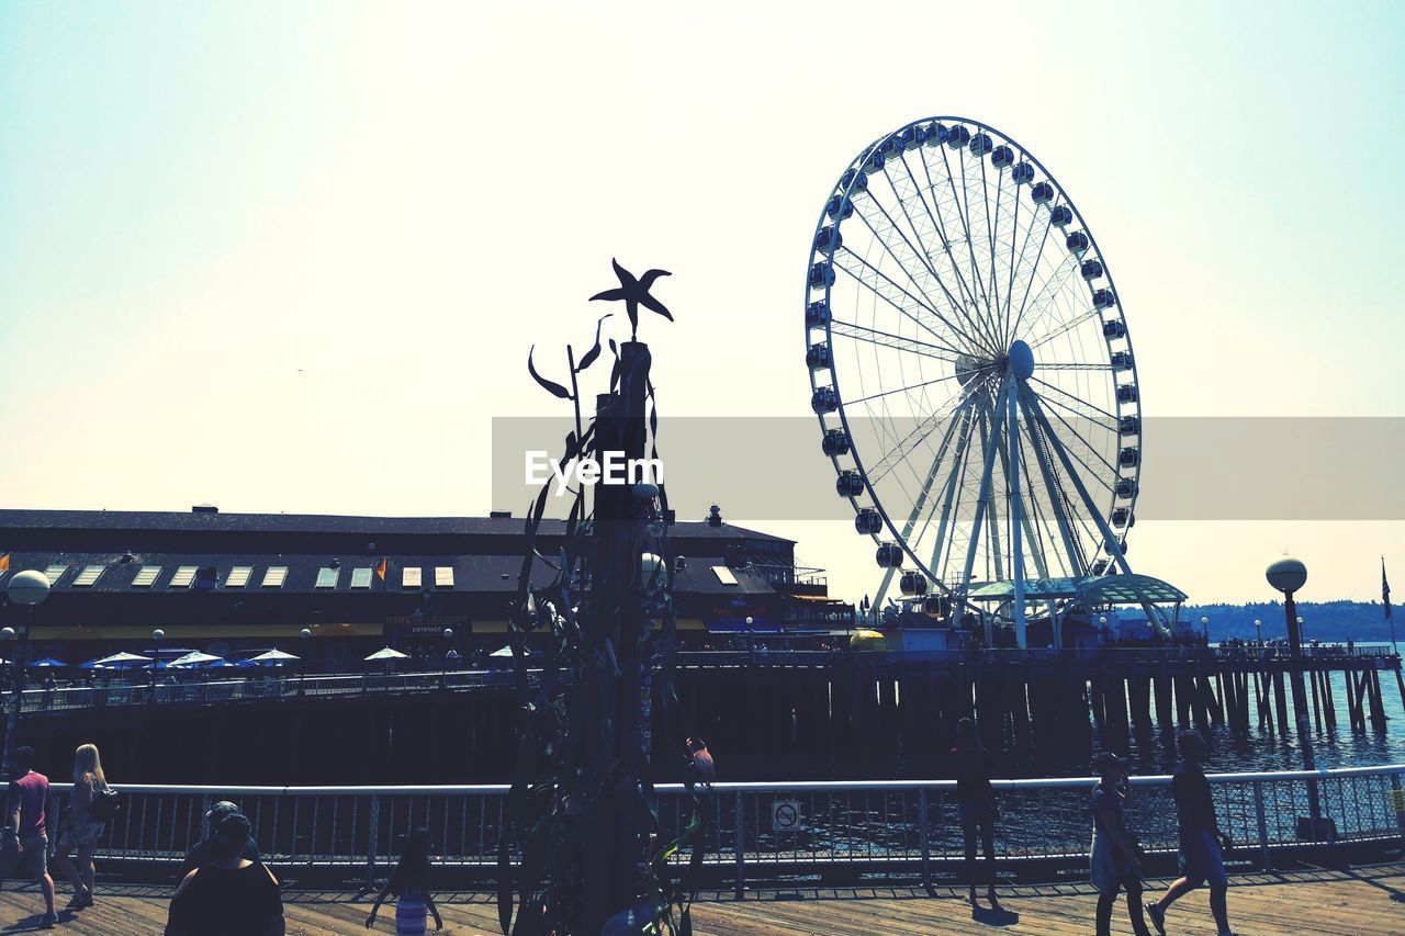
<path id="1" fill-rule="evenodd" d="M 1031 579 L 1131 572 L 1137 360 L 1107 260 L 1064 188 L 978 121 L 936 117 L 858 153 L 805 274 L 822 451 L 877 544 L 878 603 L 967 606 Z M 877 604 L 877 603 L 875 603 Z"/>

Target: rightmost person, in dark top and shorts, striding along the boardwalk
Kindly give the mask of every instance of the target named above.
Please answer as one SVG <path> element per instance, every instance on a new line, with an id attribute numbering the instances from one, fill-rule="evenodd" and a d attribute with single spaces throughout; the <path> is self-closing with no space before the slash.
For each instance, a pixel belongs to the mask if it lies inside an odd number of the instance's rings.
<path id="1" fill-rule="evenodd" d="M 1220 831 L 1215 802 L 1205 780 L 1205 739 L 1196 731 L 1182 731 L 1180 765 L 1170 777 L 1170 793 L 1176 798 L 1176 819 L 1180 824 L 1180 877 L 1166 888 L 1161 899 L 1146 905 L 1146 915 L 1161 936 L 1166 936 L 1166 909 L 1201 884 L 1210 885 L 1210 911 L 1215 916 L 1218 936 L 1234 936 L 1229 929 L 1225 876 L 1221 846 L 1229 847 L 1229 836 Z"/>

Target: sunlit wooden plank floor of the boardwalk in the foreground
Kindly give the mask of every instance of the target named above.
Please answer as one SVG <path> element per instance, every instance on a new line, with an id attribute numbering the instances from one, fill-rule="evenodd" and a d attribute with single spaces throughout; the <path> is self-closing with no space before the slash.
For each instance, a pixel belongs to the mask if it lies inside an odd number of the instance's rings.
<path id="1" fill-rule="evenodd" d="M 1405 933 L 1405 864 L 1356 870 L 1308 870 L 1248 874 L 1232 878 L 1229 916 L 1243 936 L 1274 933 L 1339 933 L 1368 936 Z M 1155 895 L 1165 881 L 1152 883 Z M 72 933 L 160 933 L 169 899 L 166 887 L 98 885 L 98 904 L 79 914 L 60 912 L 59 929 Z M 889 936 L 896 933 L 1086 935 L 1093 930 L 1096 897 L 1089 887 L 1071 884 L 1021 885 L 1003 891 L 1005 914 L 985 911 L 972 918 L 960 892 L 940 888 L 934 895 L 908 888 L 804 890 L 749 894 L 707 894 L 695 909 L 698 933 L 823 933 L 825 936 Z M 60 885 L 60 904 L 69 890 Z M 343 892 L 289 891 L 285 894 L 289 933 L 364 933 L 370 905 Z M 0 932 L 32 929 L 42 898 L 32 885 L 0 894 Z M 483 894 L 445 894 L 440 898 L 448 933 L 497 933 L 497 911 Z M 1121 909 L 1121 906 L 1120 906 Z M 395 911 L 382 914 L 375 932 L 393 932 Z M 1205 892 L 1196 891 L 1172 908 L 1168 929 L 1176 936 L 1211 936 L 1214 923 Z M 1130 933 L 1125 914 L 1113 932 Z"/>

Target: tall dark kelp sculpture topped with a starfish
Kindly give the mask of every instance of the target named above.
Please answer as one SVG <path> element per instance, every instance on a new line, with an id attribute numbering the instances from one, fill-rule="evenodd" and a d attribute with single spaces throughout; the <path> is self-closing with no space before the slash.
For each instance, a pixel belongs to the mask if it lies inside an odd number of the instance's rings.
<path id="1" fill-rule="evenodd" d="M 635 340 L 638 306 L 672 319 L 649 295 L 662 270 L 636 280 L 614 264 L 621 287 L 592 297 L 624 301 L 631 340 L 615 344 L 608 391 L 594 416 L 582 413 L 582 374 L 600 357 L 604 318 L 580 360 L 566 349 L 569 389 L 532 378 L 568 399 L 575 429 L 562 464 L 622 457 L 658 464 L 658 412 L 649 349 Z M 610 318 L 610 316 L 606 316 Z M 535 349 L 534 349 L 535 351 Z M 656 779 L 691 784 L 691 752 L 673 682 L 676 620 L 667 495 L 662 478 L 608 478 L 572 490 L 565 537 L 555 552 L 538 548 L 549 482 L 527 516 L 527 552 L 510 609 L 513 665 L 520 701 L 520 746 L 499 849 L 499 922 L 504 933 L 691 930 L 690 877 L 702 859 L 708 795 L 694 788 L 684 828 L 659 826 Z M 527 680 L 527 638 L 544 654 L 541 680 Z M 658 710 L 653 700 L 658 698 Z M 652 725 L 677 756 L 651 765 Z M 691 847 L 679 881 L 673 859 Z M 516 862 L 516 867 L 514 867 Z M 618 929 L 617 929 L 618 928 Z"/>

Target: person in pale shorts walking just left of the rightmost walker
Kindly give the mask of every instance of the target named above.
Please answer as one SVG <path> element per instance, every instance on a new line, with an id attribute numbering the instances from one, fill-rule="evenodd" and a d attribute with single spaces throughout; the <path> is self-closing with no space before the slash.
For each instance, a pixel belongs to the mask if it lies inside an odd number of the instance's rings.
<path id="1" fill-rule="evenodd" d="M 1137 842 L 1127 832 L 1124 807 L 1131 791 L 1127 762 L 1104 750 L 1093 759 L 1097 786 L 1089 811 L 1093 814 L 1092 878 L 1097 888 L 1097 936 L 1113 932 L 1113 908 L 1117 895 L 1127 891 L 1127 915 L 1137 936 L 1149 936 L 1142 915 L 1141 856 Z"/>

